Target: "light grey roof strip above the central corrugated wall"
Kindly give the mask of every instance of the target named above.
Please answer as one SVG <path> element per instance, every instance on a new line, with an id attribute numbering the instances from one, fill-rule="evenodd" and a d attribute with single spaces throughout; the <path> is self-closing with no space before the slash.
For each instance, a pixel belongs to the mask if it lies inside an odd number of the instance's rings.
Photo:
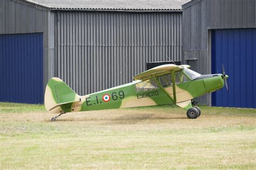
<path id="1" fill-rule="evenodd" d="M 59 10 L 182 10 L 190 0 L 26 0 Z"/>

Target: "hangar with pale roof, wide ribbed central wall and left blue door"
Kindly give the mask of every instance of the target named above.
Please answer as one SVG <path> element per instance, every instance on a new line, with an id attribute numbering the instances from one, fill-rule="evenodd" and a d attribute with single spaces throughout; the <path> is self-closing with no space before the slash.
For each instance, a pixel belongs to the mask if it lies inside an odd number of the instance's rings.
<path id="1" fill-rule="evenodd" d="M 147 62 L 180 61 L 186 2 L 0 1 L 0 101 L 43 103 L 53 76 L 85 95 L 130 82 Z"/>

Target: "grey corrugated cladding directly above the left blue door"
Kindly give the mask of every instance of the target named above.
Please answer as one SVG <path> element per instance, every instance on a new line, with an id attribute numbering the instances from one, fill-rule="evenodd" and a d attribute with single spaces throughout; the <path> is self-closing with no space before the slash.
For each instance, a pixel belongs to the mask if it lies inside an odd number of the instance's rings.
<path id="1" fill-rule="evenodd" d="M 45 9 L 23 4 L 22 1 L 0 1 L 0 34 L 44 32 L 48 30 L 48 14 Z M 44 42 L 47 42 L 45 39 Z M 45 43 L 47 44 L 47 43 Z"/>

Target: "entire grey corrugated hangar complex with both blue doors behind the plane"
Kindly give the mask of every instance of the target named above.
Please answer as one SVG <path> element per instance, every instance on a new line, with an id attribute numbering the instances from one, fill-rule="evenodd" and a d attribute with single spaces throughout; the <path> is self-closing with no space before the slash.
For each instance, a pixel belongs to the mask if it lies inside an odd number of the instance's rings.
<path id="1" fill-rule="evenodd" d="M 172 59 L 201 74 L 221 73 L 224 64 L 229 90 L 199 103 L 256 108 L 255 7 L 254 0 L 3 0 L 0 101 L 43 103 L 53 76 L 85 95 Z"/>

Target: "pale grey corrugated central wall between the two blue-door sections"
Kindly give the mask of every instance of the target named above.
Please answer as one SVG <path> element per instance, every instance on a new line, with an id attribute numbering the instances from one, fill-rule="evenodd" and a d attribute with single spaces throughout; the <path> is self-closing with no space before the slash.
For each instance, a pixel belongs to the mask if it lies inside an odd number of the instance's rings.
<path id="1" fill-rule="evenodd" d="M 131 82 L 146 62 L 181 60 L 181 17 L 181 12 L 57 12 L 57 76 L 85 95 Z"/>

